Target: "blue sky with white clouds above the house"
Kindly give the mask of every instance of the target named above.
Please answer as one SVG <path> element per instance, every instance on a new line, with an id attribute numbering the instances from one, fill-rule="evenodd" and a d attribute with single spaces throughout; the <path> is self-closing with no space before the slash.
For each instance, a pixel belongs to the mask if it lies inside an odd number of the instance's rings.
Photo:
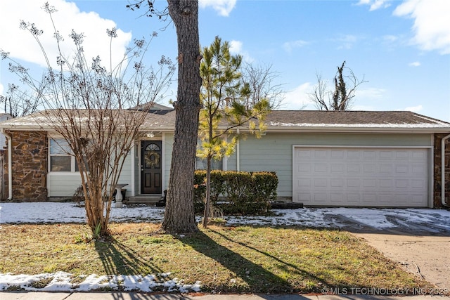
<path id="1" fill-rule="evenodd" d="M 50 32 L 45 29 L 48 18 L 39 9 L 44 1 L 23 0 L 20 6 L 12 2 L 0 4 L 0 48 L 40 70 L 41 53 L 18 24 L 23 19 Z M 157 2 L 164 8 L 165 1 Z M 139 17 L 144 11 L 128 11 L 128 1 L 49 3 L 58 8 L 57 27 L 66 37 L 72 28 L 84 32 L 88 55 L 109 55 L 109 44 L 102 39 L 106 28 L 115 26 L 120 31 L 113 53 L 121 55 L 132 39 L 155 31 L 158 37 L 150 46 L 148 64 L 161 55 L 176 58 L 174 25 Z M 316 109 L 308 97 L 316 74 L 332 86 L 337 67 L 345 60 L 356 77 L 368 81 L 359 86 L 353 110 L 411 110 L 450 122 L 449 15 L 448 0 L 203 0 L 200 44 L 209 46 L 219 36 L 246 61 L 271 65 L 279 74 L 276 83 L 286 92 L 283 109 Z M 49 35 L 44 46 L 50 44 Z M 4 61 L 0 67 L 0 93 L 5 93 L 15 79 Z M 176 83 L 172 89 L 176 91 Z M 175 97 L 168 94 L 166 100 Z"/>

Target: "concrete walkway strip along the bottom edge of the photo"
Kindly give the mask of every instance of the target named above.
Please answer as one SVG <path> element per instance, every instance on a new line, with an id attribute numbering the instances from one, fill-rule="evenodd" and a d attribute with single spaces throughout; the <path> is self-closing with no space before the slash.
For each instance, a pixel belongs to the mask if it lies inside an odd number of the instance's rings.
<path id="1" fill-rule="evenodd" d="M 180 294 L 141 294 L 128 292 L 111 293 L 51 293 L 51 292 L 0 292 L 0 300 L 448 300 L 448 296 L 370 296 L 370 295 L 298 295 L 298 294 L 226 294 L 226 295 L 180 295 Z"/>

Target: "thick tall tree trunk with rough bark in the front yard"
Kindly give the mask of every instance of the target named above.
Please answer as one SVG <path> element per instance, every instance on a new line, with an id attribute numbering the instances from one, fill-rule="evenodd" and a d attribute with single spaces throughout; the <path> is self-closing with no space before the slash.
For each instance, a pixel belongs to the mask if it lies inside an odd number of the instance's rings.
<path id="1" fill-rule="evenodd" d="M 162 229 L 168 233 L 198 231 L 193 184 L 200 112 L 200 41 L 198 0 L 167 0 L 178 38 L 178 98 L 169 190 Z"/>

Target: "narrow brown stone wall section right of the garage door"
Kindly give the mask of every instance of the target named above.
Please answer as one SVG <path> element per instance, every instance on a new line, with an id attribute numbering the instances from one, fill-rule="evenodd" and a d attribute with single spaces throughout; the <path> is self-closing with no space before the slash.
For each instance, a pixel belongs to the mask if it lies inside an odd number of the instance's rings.
<path id="1" fill-rule="evenodd" d="M 447 133 L 447 134 L 450 134 Z M 442 176 L 442 138 L 447 134 L 435 134 L 435 207 L 442 207 L 441 202 L 441 176 Z M 446 205 L 450 207 L 450 138 L 445 142 L 445 200 Z"/>

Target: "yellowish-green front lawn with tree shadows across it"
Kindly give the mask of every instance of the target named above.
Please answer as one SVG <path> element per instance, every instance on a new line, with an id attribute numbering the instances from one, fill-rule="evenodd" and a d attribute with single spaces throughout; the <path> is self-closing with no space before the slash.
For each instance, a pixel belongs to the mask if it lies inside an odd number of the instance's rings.
<path id="1" fill-rule="evenodd" d="M 186 236 L 153 223 L 113 223 L 113 240 L 84 242 L 79 224 L 2 225 L 0 273 L 170 272 L 204 292 L 320 292 L 323 287 L 432 287 L 338 230 L 212 226 Z"/>

